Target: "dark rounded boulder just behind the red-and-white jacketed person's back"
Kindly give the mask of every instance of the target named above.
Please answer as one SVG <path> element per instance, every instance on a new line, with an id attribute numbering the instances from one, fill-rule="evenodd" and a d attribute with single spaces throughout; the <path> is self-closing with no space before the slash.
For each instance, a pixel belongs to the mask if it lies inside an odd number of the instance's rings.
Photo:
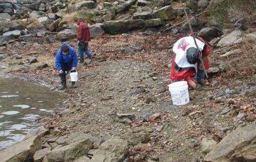
<path id="1" fill-rule="evenodd" d="M 222 35 L 222 32 L 215 28 L 203 28 L 199 31 L 198 36 L 202 37 L 203 39 L 210 41 L 213 38 L 219 37 Z"/>

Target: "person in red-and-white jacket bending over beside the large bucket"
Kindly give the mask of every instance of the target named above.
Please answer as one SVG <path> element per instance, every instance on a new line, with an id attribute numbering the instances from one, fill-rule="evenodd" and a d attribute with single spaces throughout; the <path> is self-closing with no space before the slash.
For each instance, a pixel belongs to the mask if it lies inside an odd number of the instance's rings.
<path id="1" fill-rule="evenodd" d="M 209 69 L 208 55 L 210 54 L 210 46 L 205 40 L 196 37 L 196 43 L 202 52 L 202 59 L 205 69 Z M 172 70 L 170 79 L 177 82 L 182 79 L 188 82 L 188 86 L 196 88 L 193 78 L 196 75 L 198 84 L 205 84 L 205 73 L 203 66 L 199 60 L 199 51 L 195 45 L 193 37 L 183 37 L 175 42 L 173 46 Z"/>

